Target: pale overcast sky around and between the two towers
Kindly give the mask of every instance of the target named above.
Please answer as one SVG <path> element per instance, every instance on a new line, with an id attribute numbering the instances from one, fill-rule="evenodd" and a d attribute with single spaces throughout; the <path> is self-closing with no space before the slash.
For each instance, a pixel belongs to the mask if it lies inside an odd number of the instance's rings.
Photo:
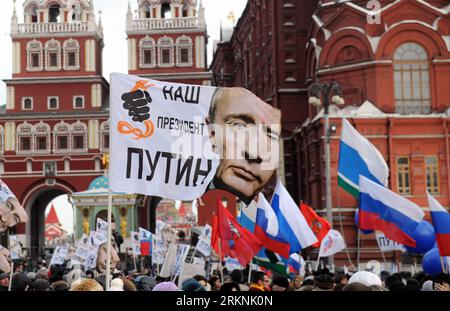
<path id="1" fill-rule="evenodd" d="M 19 22 L 23 22 L 24 0 L 17 0 Z M 199 2 L 199 0 L 197 0 Z M 206 24 L 209 35 L 208 64 L 212 59 L 213 41 L 220 38 L 220 21 L 226 20 L 230 11 L 239 17 L 245 8 L 246 0 L 203 0 Z M 137 0 L 131 0 L 133 11 L 137 9 Z M 128 8 L 127 0 L 94 0 L 94 8 L 98 19 L 98 11 L 102 11 L 105 48 L 103 50 L 103 75 L 109 80 L 111 72 L 127 73 L 128 55 L 125 34 L 125 22 Z M 0 79 L 11 78 L 11 16 L 13 0 L 0 0 Z M 6 87 L 0 82 L 0 105 L 6 102 Z"/>

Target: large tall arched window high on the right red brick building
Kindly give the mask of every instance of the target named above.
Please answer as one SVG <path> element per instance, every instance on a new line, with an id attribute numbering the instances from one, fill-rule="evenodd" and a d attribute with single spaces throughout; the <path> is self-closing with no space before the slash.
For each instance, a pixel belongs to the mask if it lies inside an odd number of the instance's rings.
<path id="1" fill-rule="evenodd" d="M 394 54 L 395 111 L 402 114 L 431 112 L 428 54 L 414 42 Z"/>

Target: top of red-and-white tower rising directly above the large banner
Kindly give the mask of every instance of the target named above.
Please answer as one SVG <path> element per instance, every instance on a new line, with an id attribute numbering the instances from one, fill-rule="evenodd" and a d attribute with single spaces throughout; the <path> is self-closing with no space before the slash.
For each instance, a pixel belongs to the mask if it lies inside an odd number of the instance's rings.
<path id="1" fill-rule="evenodd" d="M 127 12 L 128 72 L 150 79 L 209 85 L 202 2 L 138 0 Z"/>

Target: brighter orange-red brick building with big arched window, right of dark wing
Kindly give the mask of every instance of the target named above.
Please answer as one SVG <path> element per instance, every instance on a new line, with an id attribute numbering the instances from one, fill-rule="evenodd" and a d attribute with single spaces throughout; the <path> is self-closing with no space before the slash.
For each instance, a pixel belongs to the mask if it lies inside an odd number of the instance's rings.
<path id="1" fill-rule="evenodd" d="M 422 206 L 426 190 L 450 206 L 450 7 L 448 1 L 381 1 L 376 18 L 367 1 L 324 1 L 313 16 L 306 51 L 312 81 L 336 81 L 344 107 L 332 107 L 333 219 L 340 216 L 350 255 L 381 259 L 374 235 L 361 235 L 357 253 L 357 202 L 337 186 L 342 117 L 380 150 L 390 168 L 389 188 Z M 296 136 L 301 197 L 325 208 L 323 118 L 315 107 Z M 341 215 L 339 214 L 341 213 Z M 428 213 L 427 213 L 428 214 Z M 429 216 L 426 219 L 430 220 Z M 386 254 L 392 261 L 392 253 Z M 397 254 L 397 260 L 400 260 Z M 345 255 L 338 256 L 345 260 Z"/>

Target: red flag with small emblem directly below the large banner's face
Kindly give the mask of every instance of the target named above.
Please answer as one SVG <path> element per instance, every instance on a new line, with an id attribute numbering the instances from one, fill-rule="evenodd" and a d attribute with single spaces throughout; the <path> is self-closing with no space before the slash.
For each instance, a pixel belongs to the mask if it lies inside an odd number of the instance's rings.
<path id="1" fill-rule="evenodd" d="M 261 249 L 261 241 L 249 230 L 242 227 L 233 215 L 217 202 L 217 216 L 212 224 L 212 241 L 214 250 L 219 253 L 219 239 L 224 255 L 236 258 L 243 266 L 247 265 Z"/>

